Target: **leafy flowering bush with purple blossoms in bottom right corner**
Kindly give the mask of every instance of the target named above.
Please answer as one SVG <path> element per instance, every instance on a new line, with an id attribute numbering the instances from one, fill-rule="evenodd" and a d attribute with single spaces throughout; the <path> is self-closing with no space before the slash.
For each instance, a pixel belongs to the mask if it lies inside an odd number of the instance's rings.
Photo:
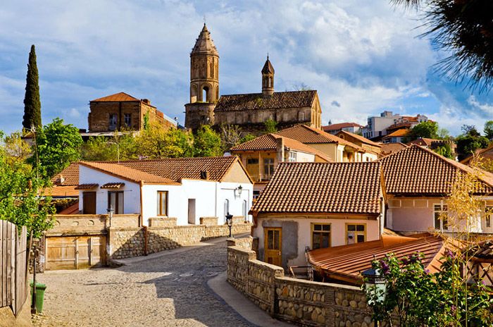
<path id="1" fill-rule="evenodd" d="M 395 322 L 399 326 L 493 326 L 493 298 L 482 283 L 468 283 L 461 276 L 461 255 L 447 251 L 437 273 L 425 269 L 422 259 L 419 253 L 400 259 L 387 254 L 373 261 L 373 269 L 386 282 L 385 297 L 382 290 L 363 283 L 374 320 L 389 326 Z"/>

